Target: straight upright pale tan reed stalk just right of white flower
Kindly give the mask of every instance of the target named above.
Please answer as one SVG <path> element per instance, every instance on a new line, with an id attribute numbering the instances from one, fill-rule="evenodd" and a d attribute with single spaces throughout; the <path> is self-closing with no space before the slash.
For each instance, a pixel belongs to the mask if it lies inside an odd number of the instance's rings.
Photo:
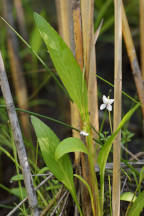
<path id="1" fill-rule="evenodd" d="M 115 8 L 115 65 L 114 65 L 114 119 L 115 131 L 121 121 L 122 106 L 122 1 L 114 1 Z M 113 143 L 113 191 L 112 211 L 114 216 L 120 216 L 120 149 L 121 132 Z"/>

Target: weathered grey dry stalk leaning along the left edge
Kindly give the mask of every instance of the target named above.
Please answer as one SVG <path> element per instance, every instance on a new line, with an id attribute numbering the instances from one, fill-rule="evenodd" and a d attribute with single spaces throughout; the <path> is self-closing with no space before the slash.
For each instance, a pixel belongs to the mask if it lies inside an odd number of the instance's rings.
<path id="1" fill-rule="evenodd" d="M 15 111 L 15 107 L 14 107 L 14 103 L 13 103 L 9 83 L 7 80 L 7 75 L 5 72 L 1 53 L 0 53 L 0 84 L 1 84 L 3 97 L 6 103 L 7 111 L 8 111 L 8 116 L 9 116 L 12 132 L 14 136 L 14 142 L 15 142 L 16 149 L 18 152 L 19 161 L 22 167 L 22 173 L 24 177 L 24 183 L 25 183 L 25 187 L 27 191 L 31 213 L 33 216 L 39 216 L 39 211 L 37 208 L 37 197 L 34 191 L 32 175 L 30 172 L 30 167 L 29 167 L 29 163 L 28 163 L 28 159 L 27 159 L 27 155 L 25 151 L 25 146 L 23 143 L 23 138 L 22 138 L 17 114 Z"/>

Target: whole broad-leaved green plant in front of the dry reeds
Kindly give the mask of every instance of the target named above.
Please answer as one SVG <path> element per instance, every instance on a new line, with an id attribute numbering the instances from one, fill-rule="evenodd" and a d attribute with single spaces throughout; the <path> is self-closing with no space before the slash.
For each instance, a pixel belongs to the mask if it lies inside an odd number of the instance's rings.
<path id="1" fill-rule="evenodd" d="M 83 121 L 83 130 L 88 135 L 86 136 L 87 146 L 76 139 L 76 138 L 67 138 L 60 142 L 54 132 L 38 120 L 35 117 L 32 117 L 32 123 L 39 141 L 39 145 L 42 151 L 42 155 L 46 165 L 49 167 L 51 172 L 64 183 L 64 185 L 69 189 L 70 193 L 76 204 L 78 205 L 80 214 L 79 204 L 76 199 L 76 192 L 73 183 L 73 171 L 72 165 L 69 159 L 66 157 L 66 153 L 69 152 L 85 152 L 88 154 L 88 159 L 91 169 L 92 181 L 95 185 L 95 193 L 98 195 L 98 183 L 94 173 L 94 160 L 91 149 L 91 127 L 89 123 L 88 108 L 87 108 L 87 90 L 84 77 L 78 64 L 76 63 L 71 51 L 55 30 L 42 18 L 40 15 L 34 15 L 37 27 L 40 31 L 40 34 L 47 45 L 49 54 L 53 61 L 56 70 L 67 89 L 71 99 L 77 104 L 81 118 Z M 72 73 L 73 72 L 73 73 Z M 139 107 L 139 103 L 134 106 L 122 119 L 117 130 L 106 140 L 104 146 L 101 148 L 98 154 L 98 164 L 100 167 L 100 198 L 97 196 L 97 213 L 98 215 L 103 215 L 103 204 L 104 204 L 104 175 L 105 175 L 105 165 L 109 152 L 112 147 L 112 143 L 118 134 L 119 130 L 124 126 L 125 122 L 131 117 L 135 110 Z M 50 145 L 51 144 L 51 145 Z M 61 169 L 61 167 L 65 169 Z M 65 172 L 64 172 L 65 171 Z M 64 173 L 63 173 L 64 172 Z M 63 173 L 63 175 L 62 175 Z M 69 174 L 68 174 L 69 173 Z M 69 181 L 67 180 L 69 176 Z M 81 177 L 80 177 L 81 178 Z M 89 190 L 90 191 L 90 190 Z M 90 193 L 91 194 L 91 193 Z M 94 196 L 94 194 L 93 194 Z M 94 202 L 94 199 L 91 199 Z M 95 204 L 93 203 L 92 206 Z M 95 215 L 95 210 L 93 209 L 93 214 Z"/>

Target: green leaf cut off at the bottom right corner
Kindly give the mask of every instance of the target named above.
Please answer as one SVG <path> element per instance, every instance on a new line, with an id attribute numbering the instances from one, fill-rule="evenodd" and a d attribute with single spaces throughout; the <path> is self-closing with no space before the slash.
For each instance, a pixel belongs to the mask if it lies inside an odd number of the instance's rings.
<path id="1" fill-rule="evenodd" d="M 127 216 L 139 216 L 141 211 L 144 208 L 144 191 L 142 191 L 136 201 L 131 206 L 130 210 L 128 211 Z"/>

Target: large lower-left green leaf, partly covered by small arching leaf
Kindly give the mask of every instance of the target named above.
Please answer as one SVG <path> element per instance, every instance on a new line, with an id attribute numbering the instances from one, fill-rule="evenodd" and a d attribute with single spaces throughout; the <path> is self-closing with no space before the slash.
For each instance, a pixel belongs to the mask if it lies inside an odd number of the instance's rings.
<path id="1" fill-rule="evenodd" d="M 69 156 L 65 155 L 58 161 L 55 159 L 55 150 L 60 142 L 58 137 L 40 119 L 31 116 L 31 120 L 47 167 L 59 181 L 72 190 L 73 169 Z"/>

